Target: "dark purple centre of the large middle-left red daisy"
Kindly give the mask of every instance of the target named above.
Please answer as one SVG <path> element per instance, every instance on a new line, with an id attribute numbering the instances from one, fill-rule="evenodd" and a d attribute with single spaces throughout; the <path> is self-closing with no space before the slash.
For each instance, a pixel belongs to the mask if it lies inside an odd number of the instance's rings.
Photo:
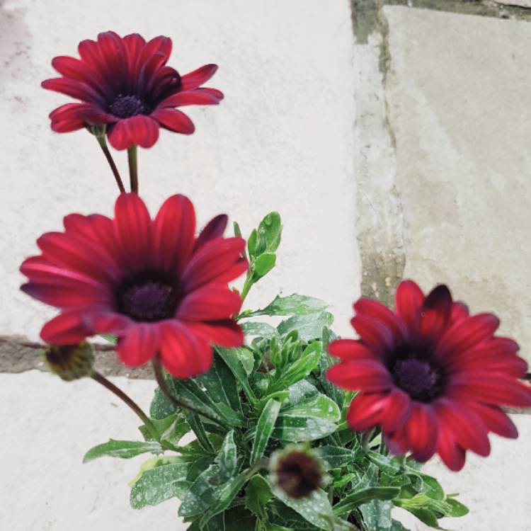
<path id="1" fill-rule="evenodd" d="M 161 321 L 175 313 L 178 297 L 174 287 L 154 280 L 129 285 L 118 300 L 123 313 L 135 321 Z"/>

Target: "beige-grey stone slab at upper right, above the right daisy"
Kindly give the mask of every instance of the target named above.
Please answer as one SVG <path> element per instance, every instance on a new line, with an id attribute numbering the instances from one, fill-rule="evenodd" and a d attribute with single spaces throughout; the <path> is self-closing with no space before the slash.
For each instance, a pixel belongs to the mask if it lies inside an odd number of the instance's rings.
<path id="1" fill-rule="evenodd" d="M 531 360 L 531 25 L 386 7 L 404 275 L 501 316 Z"/>

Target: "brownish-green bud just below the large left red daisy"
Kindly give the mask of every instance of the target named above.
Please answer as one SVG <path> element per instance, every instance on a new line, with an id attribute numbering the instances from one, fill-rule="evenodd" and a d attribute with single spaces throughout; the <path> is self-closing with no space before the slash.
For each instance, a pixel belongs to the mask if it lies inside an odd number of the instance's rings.
<path id="1" fill-rule="evenodd" d="M 91 345 L 83 342 L 76 345 L 48 345 L 42 350 L 50 370 L 65 382 L 92 374 L 94 354 Z"/>

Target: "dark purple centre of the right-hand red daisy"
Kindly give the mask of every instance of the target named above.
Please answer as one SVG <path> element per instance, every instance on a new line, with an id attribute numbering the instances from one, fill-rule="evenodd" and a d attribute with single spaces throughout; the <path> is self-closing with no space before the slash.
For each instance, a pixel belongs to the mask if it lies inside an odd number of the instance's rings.
<path id="1" fill-rule="evenodd" d="M 442 377 L 439 370 L 425 360 L 396 360 L 392 369 L 394 383 L 413 400 L 430 402 L 440 395 Z"/>

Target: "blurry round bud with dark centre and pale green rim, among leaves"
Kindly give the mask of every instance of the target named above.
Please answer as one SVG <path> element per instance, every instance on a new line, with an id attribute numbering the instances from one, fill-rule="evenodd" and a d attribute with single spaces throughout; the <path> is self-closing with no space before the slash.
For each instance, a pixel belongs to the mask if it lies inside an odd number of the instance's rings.
<path id="1" fill-rule="evenodd" d="M 306 498 L 323 482 L 323 467 L 316 450 L 289 445 L 271 456 L 273 484 L 290 498 Z"/>

